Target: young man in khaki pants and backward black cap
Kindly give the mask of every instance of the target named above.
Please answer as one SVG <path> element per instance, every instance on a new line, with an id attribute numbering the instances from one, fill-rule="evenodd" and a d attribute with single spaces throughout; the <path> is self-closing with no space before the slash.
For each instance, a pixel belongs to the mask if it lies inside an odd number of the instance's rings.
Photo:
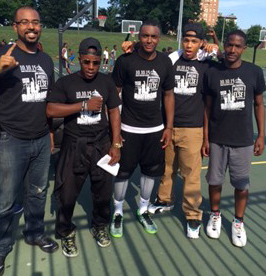
<path id="1" fill-rule="evenodd" d="M 175 116 L 172 143 L 165 150 L 165 172 L 154 204 L 149 212 L 174 207 L 173 185 L 177 169 L 183 178 L 182 208 L 187 219 L 187 236 L 198 238 L 202 211 L 200 186 L 201 146 L 203 142 L 203 76 L 211 61 L 199 61 L 204 30 L 199 23 L 185 25 L 182 55 L 175 51 L 169 57 L 175 71 Z"/>

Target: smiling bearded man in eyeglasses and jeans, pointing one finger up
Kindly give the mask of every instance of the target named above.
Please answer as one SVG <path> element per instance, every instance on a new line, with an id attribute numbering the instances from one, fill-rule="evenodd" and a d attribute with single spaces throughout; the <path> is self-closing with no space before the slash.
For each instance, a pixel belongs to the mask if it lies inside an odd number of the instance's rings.
<path id="1" fill-rule="evenodd" d="M 50 164 L 46 94 L 53 62 L 38 51 L 40 16 L 32 7 L 14 15 L 17 43 L 0 50 L 0 274 L 12 250 L 15 201 L 24 183 L 25 242 L 51 253 L 58 244 L 44 235 Z"/>

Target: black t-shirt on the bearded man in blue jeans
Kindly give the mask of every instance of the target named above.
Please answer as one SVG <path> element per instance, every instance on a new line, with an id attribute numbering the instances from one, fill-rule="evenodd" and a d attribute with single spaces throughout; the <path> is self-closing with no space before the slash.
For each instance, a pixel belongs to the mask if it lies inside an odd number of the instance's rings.
<path id="1" fill-rule="evenodd" d="M 0 49 L 5 54 L 10 45 Z M 19 65 L 0 74 L 0 125 L 12 136 L 36 139 L 48 133 L 46 95 L 54 83 L 54 64 L 42 51 L 16 47 L 11 54 Z"/>

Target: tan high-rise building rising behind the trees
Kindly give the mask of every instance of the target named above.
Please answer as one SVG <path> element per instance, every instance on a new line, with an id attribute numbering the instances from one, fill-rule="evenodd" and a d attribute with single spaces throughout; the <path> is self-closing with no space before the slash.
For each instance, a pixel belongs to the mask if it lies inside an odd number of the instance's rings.
<path id="1" fill-rule="evenodd" d="M 219 0 L 201 0 L 200 20 L 204 20 L 207 25 L 214 26 L 218 18 Z"/>

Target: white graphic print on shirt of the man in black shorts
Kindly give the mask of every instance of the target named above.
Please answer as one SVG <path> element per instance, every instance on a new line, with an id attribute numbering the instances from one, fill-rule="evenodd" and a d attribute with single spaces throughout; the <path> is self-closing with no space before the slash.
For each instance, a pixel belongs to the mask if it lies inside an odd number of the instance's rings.
<path id="1" fill-rule="evenodd" d="M 138 101 L 154 101 L 160 84 L 160 77 L 155 70 L 136 70 L 134 99 Z"/>

